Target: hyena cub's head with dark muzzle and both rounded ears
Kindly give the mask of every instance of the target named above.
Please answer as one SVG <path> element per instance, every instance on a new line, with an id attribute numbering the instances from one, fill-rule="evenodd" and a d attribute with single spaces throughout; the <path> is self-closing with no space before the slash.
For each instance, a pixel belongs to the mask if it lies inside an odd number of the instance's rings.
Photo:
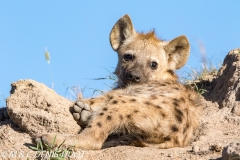
<path id="1" fill-rule="evenodd" d="M 174 70 L 186 63 L 190 50 L 185 36 L 166 42 L 158 39 L 154 31 L 137 33 L 129 15 L 120 18 L 113 26 L 110 43 L 118 53 L 115 71 L 118 87 L 151 81 L 176 81 Z"/>

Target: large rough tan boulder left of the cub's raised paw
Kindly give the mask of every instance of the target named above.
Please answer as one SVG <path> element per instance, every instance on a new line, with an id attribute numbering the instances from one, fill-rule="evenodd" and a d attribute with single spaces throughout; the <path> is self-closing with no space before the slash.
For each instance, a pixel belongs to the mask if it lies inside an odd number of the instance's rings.
<path id="1" fill-rule="evenodd" d="M 80 126 L 73 119 L 73 102 L 33 80 L 12 83 L 7 111 L 12 121 L 30 135 L 47 132 L 77 134 Z"/>

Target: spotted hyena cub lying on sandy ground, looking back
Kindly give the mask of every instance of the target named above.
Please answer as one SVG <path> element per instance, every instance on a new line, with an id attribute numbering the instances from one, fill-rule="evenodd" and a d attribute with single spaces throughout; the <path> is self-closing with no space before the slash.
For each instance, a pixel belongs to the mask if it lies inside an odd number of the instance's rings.
<path id="1" fill-rule="evenodd" d="M 73 107 L 75 120 L 84 129 L 78 135 L 41 134 L 35 142 L 79 149 L 101 149 L 112 133 L 132 137 L 139 147 L 184 147 L 198 127 L 202 109 L 198 95 L 178 82 L 174 70 L 189 55 L 189 42 L 180 36 L 170 42 L 154 32 L 137 33 L 128 15 L 110 33 L 118 53 L 115 74 L 118 87 L 97 98 L 80 100 Z"/>

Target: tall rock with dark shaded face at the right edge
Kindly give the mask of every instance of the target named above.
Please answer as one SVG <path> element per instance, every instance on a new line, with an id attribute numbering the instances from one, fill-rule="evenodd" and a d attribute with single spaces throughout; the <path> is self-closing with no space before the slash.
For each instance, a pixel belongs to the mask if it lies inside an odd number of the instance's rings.
<path id="1" fill-rule="evenodd" d="M 231 50 L 225 57 L 215 83 L 210 100 L 240 115 L 240 48 Z"/>

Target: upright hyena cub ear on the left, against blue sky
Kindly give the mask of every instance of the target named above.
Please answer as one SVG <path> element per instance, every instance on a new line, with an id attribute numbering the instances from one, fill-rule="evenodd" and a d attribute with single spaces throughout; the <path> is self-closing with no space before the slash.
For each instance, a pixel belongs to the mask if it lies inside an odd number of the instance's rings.
<path id="1" fill-rule="evenodd" d="M 110 43 L 113 50 L 117 50 L 124 41 L 136 34 L 128 14 L 120 18 L 110 33 Z"/>

